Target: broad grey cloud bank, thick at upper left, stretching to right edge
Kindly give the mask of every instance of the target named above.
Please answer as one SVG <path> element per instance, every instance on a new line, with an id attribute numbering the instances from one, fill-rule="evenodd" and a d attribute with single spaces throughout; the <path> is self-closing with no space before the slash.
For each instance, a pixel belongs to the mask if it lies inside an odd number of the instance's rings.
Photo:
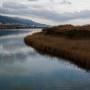
<path id="1" fill-rule="evenodd" d="M 90 19 L 90 10 L 59 14 L 45 8 L 40 9 L 39 6 L 37 6 L 37 8 L 33 8 L 33 6 L 28 7 L 19 3 L 13 3 L 12 5 L 10 4 L 11 2 L 4 2 L 3 7 L 0 7 L 0 13 L 21 16 L 36 16 L 38 18 L 52 20 L 55 22 L 66 22 L 75 19 Z"/>

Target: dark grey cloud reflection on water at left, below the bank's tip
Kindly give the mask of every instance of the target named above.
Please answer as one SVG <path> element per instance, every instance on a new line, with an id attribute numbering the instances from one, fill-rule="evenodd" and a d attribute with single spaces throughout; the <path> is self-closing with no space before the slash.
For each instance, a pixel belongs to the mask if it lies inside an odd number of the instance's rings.
<path id="1" fill-rule="evenodd" d="M 25 49 L 25 48 L 24 48 Z M 27 60 L 28 56 L 34 57 L 36 55 L 33 51 L 25 50 L 16 50 L 15 52 L 3 51 L 0 53 L 0 64 L 3 63 L 15 63 L 15 62 L 24 62 Z"/>

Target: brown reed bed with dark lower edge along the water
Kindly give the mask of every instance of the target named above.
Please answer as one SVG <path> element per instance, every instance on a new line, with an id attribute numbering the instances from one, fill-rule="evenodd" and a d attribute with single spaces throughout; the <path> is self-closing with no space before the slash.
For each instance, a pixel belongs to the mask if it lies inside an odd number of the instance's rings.
<path id="1" fill-rule="evenodd" d="M 49 34 L 47 34 L 49 30 Z M 48 53 L 50 55 L 66 58 L 77 65 L 90 69 L 90 39 L 87 32 L 67 38 L 66 34 L 56 35 L 50 33 L 51 29 L 42 31 L 41 33 L 33 34 L 25 38 L 25 43 L 34 47 L 39 52 Z M 88 34 L 90 34 L 90 31 Z M 64 31 L 65 33 L 67 31 Z M 71 30 L 70 30 L 71 32 Z M 73 30 L 72 30 L 73 32 Z M 82 31 L 83 32 L 83 31 Z M 67 32 L 69 33 L 69 32 Z M 75 34 L 78 33 L 75 32 Z M 87 38 L 84 38 L 84 34 Z"/>

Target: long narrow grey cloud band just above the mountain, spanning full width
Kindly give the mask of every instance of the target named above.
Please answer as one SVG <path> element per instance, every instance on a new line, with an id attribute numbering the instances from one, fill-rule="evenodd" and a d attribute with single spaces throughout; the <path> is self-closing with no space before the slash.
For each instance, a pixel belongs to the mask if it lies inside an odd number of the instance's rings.
<path id="1" fill-rule="evenodd" d="M 49 10 L 36 10 L 36 9 L 14 9 L 13 11 L 11 10 L 0 10 L 0 12 L 4 14 L 12 14 L 12 15 L 24 15 L 24 16 L 37 16 L 39 18 L 43 19 L 48 19 L 56 22 L 66 22 L 70 20 L 75 20 L 75 19 L 89 19 L 90 18 L 90 11 L 89 10 L 84 10 L 80 12 L 74 12 L 74 13 L 63 13 L 63 14 L 58 14 L 56 12 L 52 12 Z"/>

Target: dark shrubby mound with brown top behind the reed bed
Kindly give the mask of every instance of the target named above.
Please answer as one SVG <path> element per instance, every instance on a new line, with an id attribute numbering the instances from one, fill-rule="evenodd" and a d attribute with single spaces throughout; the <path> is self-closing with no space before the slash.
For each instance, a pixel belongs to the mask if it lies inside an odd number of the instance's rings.
<path id="1" fill-rule="evenodd" d="M 90 25 L 73 26 L 73 25 L 61 25 L 44 29 L 43 32 L 46 35 L 64 36 L 68 38 L 90 38 Z"/>

